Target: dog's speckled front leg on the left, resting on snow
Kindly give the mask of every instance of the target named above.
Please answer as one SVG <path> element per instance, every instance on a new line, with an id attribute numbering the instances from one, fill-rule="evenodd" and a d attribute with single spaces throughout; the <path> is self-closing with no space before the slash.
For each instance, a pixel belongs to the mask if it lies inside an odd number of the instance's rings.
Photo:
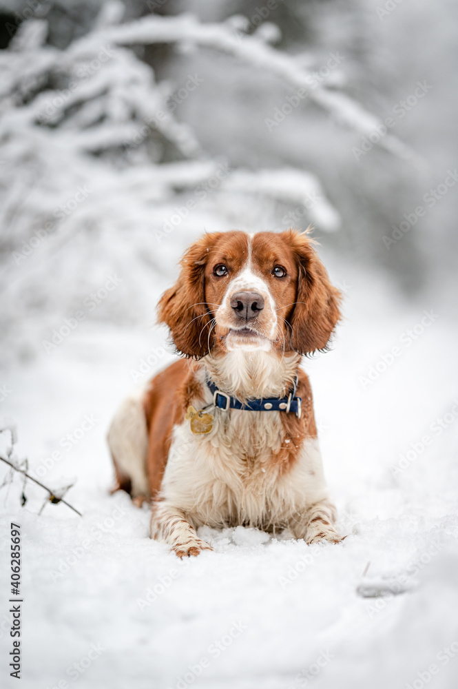
<path id="1" fill-rule="evenodd" d="M 194 526 L 189 524 L 183 510 L 168 504 L 156 502 L 151 515 L 151 537 L 168 543 L 178 557 L 199 555 L 202 551 L 212 551 L 208 543 L 202 541 Z"/>

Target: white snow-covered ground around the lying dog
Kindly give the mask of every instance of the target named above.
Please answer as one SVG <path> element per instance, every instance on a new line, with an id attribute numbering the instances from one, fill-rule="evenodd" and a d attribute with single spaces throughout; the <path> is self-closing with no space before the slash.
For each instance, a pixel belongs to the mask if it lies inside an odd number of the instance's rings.
<path id="1" fill-rule="evenodd" d="M 43 493 L 33 488 L 21 508 L 18 480 L 1 492 L 3 677 L 14 520 L 23 533 L 23 688 L 456 686 L 454 333 L 440 309 L 419 325 L 437 305 L 402 305 L 382 276 L 348 266 L 341 274 L 332 261 L 331 274 L 346 291 L 346 321 L 334 351 L 305 366 L 348 533 L 339 546 L 202 529 L 215 551 L 181 562 L 147 537 L 147 508 L 109 495 L 107 424 L 132 387 L 130 371 L 165 345 L 163 332 L 85 322 L 52 354 L 3 377 L 11 393 L 1 411 L 18 423 L 19 455 L 44 467 L 52 486 L 77 477 L 67 497 L 84 515 L 49 504 L 38 517 Z M 408 345 L 414 327 L 423 332 Z M 395 346 L 393 363 L 364 384 Z M 155 369 L 171 358 L 159 357 Z M 87 430 L 78 431 L 85 418 Z M 68 433 L 80 436 L 70 449 Z M 382 595 L 358 595 L 362 584 Z M 7 677 L 2 686 L 17 682 Z"/>

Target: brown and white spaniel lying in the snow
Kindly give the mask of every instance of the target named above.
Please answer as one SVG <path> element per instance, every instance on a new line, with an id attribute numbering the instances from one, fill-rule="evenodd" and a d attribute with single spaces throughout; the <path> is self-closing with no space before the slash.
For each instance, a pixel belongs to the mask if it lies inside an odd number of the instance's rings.
<path id="1" fill-rule="evenodd" d="M 215 232 L 187 249 L 158 309 L 183 358 L 125 400 L 108 433 L 117 488 L 152 500 L 153 538 L 180 557 L 211 550 L 203 524 L 342 540 L 300 369 L 326 349 L 339 303 L 306 234 Z"/>

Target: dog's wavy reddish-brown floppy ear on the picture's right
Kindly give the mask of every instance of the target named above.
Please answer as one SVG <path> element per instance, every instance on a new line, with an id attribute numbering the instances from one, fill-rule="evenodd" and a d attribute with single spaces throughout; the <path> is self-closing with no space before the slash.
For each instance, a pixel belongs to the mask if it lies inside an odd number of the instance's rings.
<path id="1" fill-rule="evenodd" d="M 289 318 L 291 346 L 300 354 L 326 350 L 340 320 L 341 292 L 329 282 L 326 269 L 306 234 L 283 233 L 298 262 L 296 303 Z"/>

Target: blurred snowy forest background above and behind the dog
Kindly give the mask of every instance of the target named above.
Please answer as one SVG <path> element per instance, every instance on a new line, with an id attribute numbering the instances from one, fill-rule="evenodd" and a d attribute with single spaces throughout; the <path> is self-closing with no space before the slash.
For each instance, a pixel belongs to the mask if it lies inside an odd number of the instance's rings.
<path id="1" fill-rule="evenodd" d="M 123 285 L 88 318 L 154 321 L 204 228 L 313 223 L 340 265 L 453 309 L 452 0 L 0 12 L 0 318 L 14 356 L 41 349 L 110 271 Z"/>

